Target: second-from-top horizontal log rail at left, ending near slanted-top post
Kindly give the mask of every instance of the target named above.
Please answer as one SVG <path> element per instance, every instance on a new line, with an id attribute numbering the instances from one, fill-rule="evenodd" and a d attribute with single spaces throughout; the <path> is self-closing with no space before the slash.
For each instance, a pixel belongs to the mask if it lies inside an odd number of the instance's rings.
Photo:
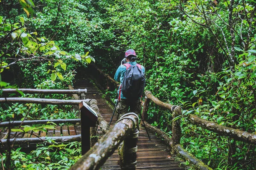
<path id="1" fill-rule="evenodd" d="M 10 103 L 37 103 L 49 105 L 79 105 L 81 101 L 88 103 L 89 99 L 85 100 L 61 100 L 61 99 L 41 99 L 41 98 L 25 98 L 25 97 L 8 97 L 0 98 L 0 102 Z"/>

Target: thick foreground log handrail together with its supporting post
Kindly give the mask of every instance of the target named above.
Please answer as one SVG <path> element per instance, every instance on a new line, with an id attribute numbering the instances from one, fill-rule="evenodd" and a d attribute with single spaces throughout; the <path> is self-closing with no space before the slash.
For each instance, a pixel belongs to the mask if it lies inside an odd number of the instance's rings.
<path id="1" fill-rule="evenodd" d="M 81 159 L 79 159 L 71 168 L 70 170 L 96 170 L 101 167 L 105 161 L 108 159 L 109 156 L 113 154 L 116 148 L 123 140 L 135 139 L 133 142 L 137 141 L 138 135 L 138 117 L 135 113 L 127 113 L 119 119 L 119 122 L 108 131 L 102 138 L 97 142 L 86 154 L 84 154 Z M 131 144 L 131 140 L 128 142 L 123 142 L 123 145 L 130 143 L 130 146 L 134 145 Z M 129 146 L 122 146 L 120 148 L 120 152 L 122 152 L 120 158 L 120 166 L 121 167 L 132 167 L 131 169 L 136 168 L 136 152 L 137 150 L 134 148 L 129 148 Z M 137 148 L 137 147 L 136 147 Z M 131 151 L 133 149 L 133 152 Z M 126 164 L 122 160 L 122 157 L 127 156 L 128 154 L 133 154 L 133 157 L 130 159 L 134 160 L 135 162 L 130 162 L 130 164 Z M 129 155 L 131 156 L 131 155 Z"/>

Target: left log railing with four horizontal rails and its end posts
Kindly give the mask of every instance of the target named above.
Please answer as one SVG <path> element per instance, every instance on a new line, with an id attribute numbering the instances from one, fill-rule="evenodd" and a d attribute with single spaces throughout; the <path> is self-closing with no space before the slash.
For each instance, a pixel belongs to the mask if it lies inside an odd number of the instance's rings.
<path id="1" fill-rule="evenodd" d="M 20 125 L 35 125 L 35 124 L 46 124 L 47 122 L 54 122 L 54 123 L 77 123 L 80 122 L 80 125 L 83 127 L 81 128 L 81 135 L 74 135 L 74 136 L 54 136 L 51 137 L 55 139 L 56 142 L 71 142 L 71 141 L 80 141 L 82 142 L 82 153 L 86 153 L 87 150 L 90 149 L 96 142 L 90 142 L 90 136 L 96 136 L 96 132 L 98 130 L 97 125 L 101 125 L 103 133 L 106 133 L 109 130 L 108 123 L 102 118 L 101 114 L 99 113 L 99 108 L 97 107 L 97 101 L 95 99 L 79 99 L 84 98 L 85 94 L 87 93 L 86 89 L 76 89 L 74 90 L 72 86 L 69 87 L 70 90 L 49 90 L 49 89 L 2 89 L 4 94 L 12 94 L 18 93 L 18 91 L 22 91 L 23 93 L 29 94 L 76 94 L 74 96 L 75 99 L 73 100 L 61 100 L 61 99 L 41 99 L 41 98 L 20 98 L 20 97 L 6 97 L 0 98 L 0 102 L 10 102 L 10 103 L 38 103 L 38 104 L 51 104 L 51 105 L 79 105 L 81 110 L 81 119 L 55 119 L 55 120 L 24 120 L 24 121 L 9 121 L 9 122 L 0 122 L 0 127 L 15 127 Z M 78 96 L 79 95 L 79 96 Z M 93 111 L 96 113 L 96 119 L 92 116 L 88 108 L 89 105 Z M 98 117 L 97 117 L 98 116 Z M 98 119 L 99 118 L 99 119 Z M 93 120 L 92 120 L 93 119 Z M 88 123 L 89 122 L 89 123 Z M 95 125 L 94 125 L 95 124 Z M 90 127 L 92 127 L 90 130 Z M 9 128 L 10 129 L 10 128 Z M 10 133 L 10 130 L 9 132 Z M 85 136 L 85 137 L 83 137 Z M 89 136 L 89 137 L 88 137 Z M 45 137 L 40 138 L 14 138 L 14 139 L 3 139 L 1 140 L 2 146 L 9 144 L 9 142 L 15 144 L 21 143 L 37 143 L 43 142 Z M 90 146 L 91 144 L 91 146 Z M 84 149 L 85 148 L 85 149 Z"/>

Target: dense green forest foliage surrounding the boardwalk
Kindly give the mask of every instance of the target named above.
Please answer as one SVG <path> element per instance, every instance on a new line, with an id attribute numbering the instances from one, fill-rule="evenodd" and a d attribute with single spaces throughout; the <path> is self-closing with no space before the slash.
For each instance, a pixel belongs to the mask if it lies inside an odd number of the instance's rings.
<path id="1" fill-rule="evenodd" d="M 74 70 L 94 58 L 113 77 L 124 51 L 133 48 L 146 68 L 146 89 L 163 102 L 183 107 L 181 144 L 186 150 L 212 168 L 256 167 L 255 146 L 186 121 L 193 113 L 219 125 L 256 132 L 254 0 L 19 2 L 0 2 L 1 88 L 66 88 Z M 26 107 L 33 108 L 31 113 Z M 1 109 L 3 121 L 75 115 L 70 108 L 55 106 L 41 113 L 41 105 Z M 55 116 L 55 111 L 61 114 Z M 151 103 L 148 113 L 148 122 L 172 136 L 170 111 Z M 19 150 L 15 154 L 22 155 Z"/>

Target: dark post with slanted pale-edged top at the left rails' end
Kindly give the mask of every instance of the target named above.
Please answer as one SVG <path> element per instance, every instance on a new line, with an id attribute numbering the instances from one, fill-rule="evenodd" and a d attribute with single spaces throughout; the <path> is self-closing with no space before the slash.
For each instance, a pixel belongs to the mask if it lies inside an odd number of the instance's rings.
<path id="1" fill-rule="evenodd" d="M 79 109 L 81 111 L 82 155 L 84 155 L 90 150 L 90 127 L 96 126 L 98 116 L 97 113 L 83 101 L 79 103 Z"/>

